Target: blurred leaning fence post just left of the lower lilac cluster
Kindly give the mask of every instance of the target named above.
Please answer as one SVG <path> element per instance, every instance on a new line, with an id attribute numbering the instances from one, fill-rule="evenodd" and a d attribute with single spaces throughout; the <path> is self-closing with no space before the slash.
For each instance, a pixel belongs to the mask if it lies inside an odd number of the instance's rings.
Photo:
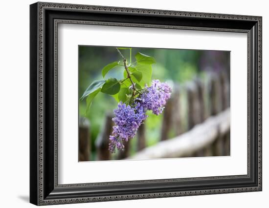
<path id="1" fill-rule="evenodd" d="M 110 159 L 109 136 L 112 133 L 112 126 L 114 124 L 112 118 L 113 115 L 107 113 L 104 126 L 95 141 L 95 146 L 97 150 L 97 160 Z"/>

